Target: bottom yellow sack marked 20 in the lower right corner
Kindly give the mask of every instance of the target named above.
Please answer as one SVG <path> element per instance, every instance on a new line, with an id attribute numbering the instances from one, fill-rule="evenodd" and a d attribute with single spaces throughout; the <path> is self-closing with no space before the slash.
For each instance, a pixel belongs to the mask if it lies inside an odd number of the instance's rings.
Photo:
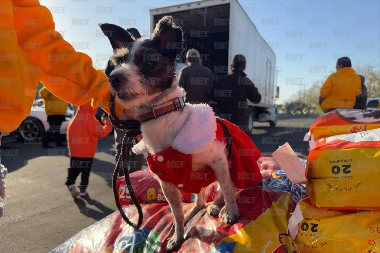
<path id="1" fill-rule="evenodd" d="M 380 252 L 380 211 L 319 210 L 303 199 L 289 230 L 301 253 Z"/>

